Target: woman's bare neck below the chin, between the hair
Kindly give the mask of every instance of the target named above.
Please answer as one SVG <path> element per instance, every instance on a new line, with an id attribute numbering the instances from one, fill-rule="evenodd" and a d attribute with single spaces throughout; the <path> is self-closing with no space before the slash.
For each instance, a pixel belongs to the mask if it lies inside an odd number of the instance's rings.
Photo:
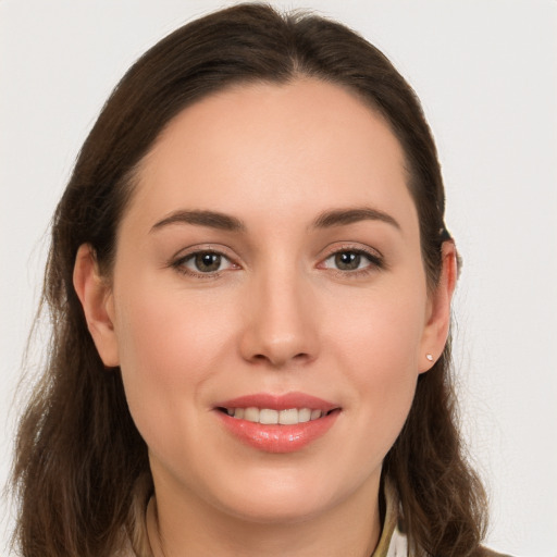
<path id="1" fill-rule="evenodd" d="M 153 557 L 369 557 L 381 534 L 377 502 L 379 485 L 375 497 L 350 499 L 317 517 L 259 523 L 209 505 L 176 508 L 160 496 L 149 503 L 147 530 Z"/>

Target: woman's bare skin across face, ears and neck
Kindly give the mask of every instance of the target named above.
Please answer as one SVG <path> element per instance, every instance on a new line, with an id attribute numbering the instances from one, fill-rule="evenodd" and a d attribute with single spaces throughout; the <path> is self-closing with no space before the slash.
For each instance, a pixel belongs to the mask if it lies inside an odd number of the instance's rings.
<path id="1" fill-rule="evenodd" d="M 371 555 L 382 461 L 433 364 L 425 355 L 443 350 L 456 276 L 446 243 L 429 293 L 406 184 L 397 139 L 351 94 L 314 79 L 244 85 L 184 110 L 144 159 L 110 277 L 82 246 L 74 282 L 89 330 L 121 367 L 149 447 L 156 556 Z M 354 208 L 396 224 L 315 226 Z M 178 210 L 243 230 L 157 226 Z M 216 273 L 184 261 L 207 249 L 225 256 Z M 335 253 L 359 251 L 371 258 L 337 268 Z M 214 408 L 293 391 L 341 408 L 294 453 L 240 443 Z"/>

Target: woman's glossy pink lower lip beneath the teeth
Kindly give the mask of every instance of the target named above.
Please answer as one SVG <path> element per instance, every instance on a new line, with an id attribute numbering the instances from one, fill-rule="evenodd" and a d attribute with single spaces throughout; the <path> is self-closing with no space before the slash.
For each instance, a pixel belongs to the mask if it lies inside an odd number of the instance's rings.
<path id="1" fill-rule="evenodd" d="M 334 424 L 339 410 L 294 425 L 264 425 L 233 418 L 216 410 L 224 426 L 239 441 L 265 453 L 295 453 L 322 437 Z"/>

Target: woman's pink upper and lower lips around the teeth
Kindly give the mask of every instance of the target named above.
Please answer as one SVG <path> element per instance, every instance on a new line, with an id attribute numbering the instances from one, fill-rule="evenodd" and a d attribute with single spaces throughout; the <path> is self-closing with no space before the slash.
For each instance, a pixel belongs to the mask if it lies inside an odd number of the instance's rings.
<path id="1" fill-rule="evenodd" d="M 223 425 L 233 435 L 247 445 L 265 453 L 294 453 L 302 449 L 317 438 L 323 436 L 332 428 L 339 413 L 338 406 L 321 398 L 305 395 L 304 393 L 288 393 L 281 396 L 261 393 L 233 398 L 218 405 L 218 408 L 249 407 L 270 408 L 273 410 L 310 408 L 312 410 L 319 409 L 323 412 L 330 412 L 318 420 L 294 425 L 264 425 L 216 411 Z"/>

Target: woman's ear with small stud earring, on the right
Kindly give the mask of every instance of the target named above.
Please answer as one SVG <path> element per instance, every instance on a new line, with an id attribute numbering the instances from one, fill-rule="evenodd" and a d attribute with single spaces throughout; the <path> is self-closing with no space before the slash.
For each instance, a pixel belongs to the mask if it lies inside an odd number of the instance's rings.
<path id="1" fill-rule="evenodd" d="M 450 325 L 450 300 L 457 284 L 457 249 L 453 240 L 443 243 L 443 269 L 435 290 L 430 294 L 426 323 L 422 336 L 421 354 L 418 355 L 419 372 L 431 369 L 447 342 Z"/>

